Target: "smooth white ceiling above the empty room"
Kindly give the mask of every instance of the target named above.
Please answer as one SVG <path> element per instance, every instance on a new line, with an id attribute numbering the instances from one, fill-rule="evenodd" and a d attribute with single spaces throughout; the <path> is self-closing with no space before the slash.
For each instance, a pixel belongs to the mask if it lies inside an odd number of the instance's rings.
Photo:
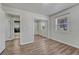
<path id="1" fill-rule="evenodd" d="M 75 3 L 4 3 L 3 6 L 19 8 L 34 13 L 43 15 L 51 15 L 68 7 L 75 5 Z"/>

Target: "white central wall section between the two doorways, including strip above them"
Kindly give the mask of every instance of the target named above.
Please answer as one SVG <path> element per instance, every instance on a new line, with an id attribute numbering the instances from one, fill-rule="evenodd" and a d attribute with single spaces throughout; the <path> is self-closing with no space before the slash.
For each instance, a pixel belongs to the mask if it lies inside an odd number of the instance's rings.
<path id="1" fill-rule="evenodd" d="M 27 44 L 34 40 L 34 19 L 47 19 L 47 16 L 3 6 L 6 13 L 20 16 L 20 43 Z"/>

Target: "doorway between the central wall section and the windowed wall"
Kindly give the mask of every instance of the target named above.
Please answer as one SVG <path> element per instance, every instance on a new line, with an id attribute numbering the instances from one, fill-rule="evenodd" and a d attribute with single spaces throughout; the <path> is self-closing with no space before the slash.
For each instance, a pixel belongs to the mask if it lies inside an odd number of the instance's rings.
<path id="1" fill-rule="evenodd" d="M 34 37 L 36 36 L 48 37 L 48 20 L 34 21 Z"/>

